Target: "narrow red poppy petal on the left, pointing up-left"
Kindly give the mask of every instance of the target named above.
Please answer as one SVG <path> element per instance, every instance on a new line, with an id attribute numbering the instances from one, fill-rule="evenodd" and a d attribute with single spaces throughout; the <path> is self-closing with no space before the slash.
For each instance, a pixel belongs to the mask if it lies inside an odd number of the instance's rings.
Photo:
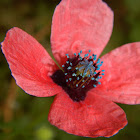
<path id="1" fill-rule="evenodd" d="M 32 36 L 15 27 L 7 32 L 1 45 L 17 85 L 34 96 L 58 93 L 60 87 L 49 77 L 54 62 Z"/>

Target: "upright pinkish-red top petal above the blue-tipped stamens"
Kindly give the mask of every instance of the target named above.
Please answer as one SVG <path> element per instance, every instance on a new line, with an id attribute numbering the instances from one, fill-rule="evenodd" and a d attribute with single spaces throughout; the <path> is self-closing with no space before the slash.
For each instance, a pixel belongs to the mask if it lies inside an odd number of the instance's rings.
<path id="1" fill-rule="evenodd" d="M 51 43 L 58 61 L 66 53 L 80 50 L 99 55 L 108 42 L 113 12 L 102 0 L 62 0 L 56 7 Z"/>

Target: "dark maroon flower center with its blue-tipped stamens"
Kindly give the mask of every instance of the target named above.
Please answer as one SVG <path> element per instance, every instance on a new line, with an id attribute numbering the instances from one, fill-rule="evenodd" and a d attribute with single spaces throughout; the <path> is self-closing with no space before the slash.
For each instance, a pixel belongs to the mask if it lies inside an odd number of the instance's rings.
<path id="1" fill-rule="evenodd" d="M 100 71 L 103 62 L 97 60 L 96 55 L 85 54 L 82 58 L 81 53 L 82 51 L 77 55 L 74 53 L 73 58 L 66 54 L 67 61 L 62 65 L 63 71 L 58 70 L 52 75 L 53 81 L 62 86 L 70 98 L 77 102 L 85 99 L 88 90 L 101 84 L 99 79 L 104 75 L 104 70 Z"/>

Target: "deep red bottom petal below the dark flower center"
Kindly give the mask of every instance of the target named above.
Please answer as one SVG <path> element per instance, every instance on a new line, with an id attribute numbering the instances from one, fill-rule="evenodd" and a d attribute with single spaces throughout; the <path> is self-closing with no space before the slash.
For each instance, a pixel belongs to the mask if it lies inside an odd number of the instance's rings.
<path id="1" fill-rule="evenodd" d="M 110 137 L 127 124 L 118 105 L 91 93 L 83 102 L 73 102 L 64 92 L 57 94 L 48 119 L 68 133 L 85 137 Z"/>

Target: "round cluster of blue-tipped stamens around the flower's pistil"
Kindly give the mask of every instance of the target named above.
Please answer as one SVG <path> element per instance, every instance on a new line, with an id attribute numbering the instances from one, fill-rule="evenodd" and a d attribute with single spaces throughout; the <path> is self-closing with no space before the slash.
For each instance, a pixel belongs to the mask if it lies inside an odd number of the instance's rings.
<path id="1" fill-rule="evenodd" d="M 70 58 L 68 54 L 67 61 L 62 65 L 65 75 L 65 81 L 71 89 L 93 88 L 100 85 L 99 79 L 104 75 L 105 70 L 100 71 L 103 61 L 97 59 L 97 56 L 89 53 L 81 57 L 82 51 L 78 54 L 74 53 L 74 57 Z"/>

